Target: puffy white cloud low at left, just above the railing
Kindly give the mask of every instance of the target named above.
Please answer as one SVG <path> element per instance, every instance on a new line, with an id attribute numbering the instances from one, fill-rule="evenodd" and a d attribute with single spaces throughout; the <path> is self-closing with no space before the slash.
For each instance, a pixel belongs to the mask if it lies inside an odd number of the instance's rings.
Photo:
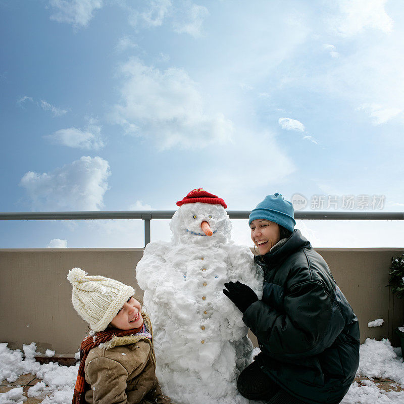
<path id="1" fill-rule="evenodd" d="M 110 175 L 107 161 L 83 156 L 52 172 L 29 171 L 22 177 L 20 185 L 31 198 L 33 209 L 97 211 L 103 207 Z"/>

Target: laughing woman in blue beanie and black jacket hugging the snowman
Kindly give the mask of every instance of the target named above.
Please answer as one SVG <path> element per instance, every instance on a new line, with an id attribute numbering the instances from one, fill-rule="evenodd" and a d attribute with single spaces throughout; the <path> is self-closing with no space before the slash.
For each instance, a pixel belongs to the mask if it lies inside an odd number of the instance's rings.
<path id="1" fill-rule="evenodd" d="M 261 353 L 240 374 L 239 392 L 275 403 L 340 402 L 359 365 L 359 325 L 327 263 L 294 229 L 293 207 L 268 195 L 249 215 L 263 297 L 240 282 L 224 294 L 243 313 Z"/>

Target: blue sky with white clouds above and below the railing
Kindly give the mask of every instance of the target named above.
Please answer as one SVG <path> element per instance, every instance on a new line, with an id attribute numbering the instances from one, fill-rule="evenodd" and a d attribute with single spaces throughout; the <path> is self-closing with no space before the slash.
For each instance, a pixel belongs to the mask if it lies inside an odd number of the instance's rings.
<path id="1" fill-rule="evenodd" d="M 198 187 L 228 210 L 274 192 L 404 210 L 399 0 L 0 0 L 0 19 L 0 211 L 175 210 Z M 319 247 L 404 243 L 402 222 L 297 227 Z M 3 248 L 143 244 L 141 221 L 0 234 Z M 251 244 L 245 221 L 233 239 Z"/>

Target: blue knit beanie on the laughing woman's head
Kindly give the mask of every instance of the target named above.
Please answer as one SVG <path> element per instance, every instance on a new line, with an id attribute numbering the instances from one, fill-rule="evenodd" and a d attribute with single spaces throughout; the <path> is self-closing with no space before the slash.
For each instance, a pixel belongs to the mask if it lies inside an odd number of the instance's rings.
<path id="1" fill-rule="evenodd" d="M 284 200 L 283 196 L 276 192 L 273 195 L 268 195 L 265 199 L 259 203 L 256 209 L 253 209 L 249 214 L 248 225 L 253 220 L 265 219 L 274 223 L 278 223 L 280 226 L 293 233 L 294 225 L 296 224 L 293 219 L 293 205 Z"/>

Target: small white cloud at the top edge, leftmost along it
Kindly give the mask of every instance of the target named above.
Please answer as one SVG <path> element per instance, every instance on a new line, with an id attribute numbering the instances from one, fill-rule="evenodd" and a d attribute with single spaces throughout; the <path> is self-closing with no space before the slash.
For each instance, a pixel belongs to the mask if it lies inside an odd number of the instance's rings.
<path id="1" fill-rule="evenodd" d="M 94 10 L 103 7 L 102 0 L 50 0 L 55 9 L 51 20 L 67 22 L 74 27 L 85 27 L 92 18 Z"/>

